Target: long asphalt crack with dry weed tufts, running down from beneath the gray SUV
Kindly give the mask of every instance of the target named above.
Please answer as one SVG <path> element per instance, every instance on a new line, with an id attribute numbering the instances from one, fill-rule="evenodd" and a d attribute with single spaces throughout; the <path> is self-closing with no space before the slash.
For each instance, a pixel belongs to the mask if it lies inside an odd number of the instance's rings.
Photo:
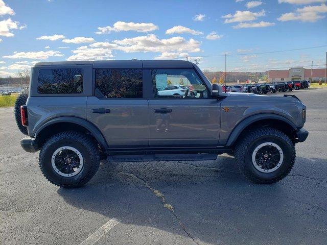
<path id="1" fill-rule="evenodd" d="M 193 240 L 197 245 L 200 245 L 200 244 L 199 244 L 199 243 L 194 239 L 194 237 L 192 237 L 191 234 L 186 230 L 185 225 L 181 222 L 180 218 L 177 216 L 177 214 L 176 214 L 176 212 L 175 212 L 175 210 L 174 210 L 174 207 L 166 202 L 165 195 L 162 194 L 159 190 L 154 189 L 153 187 L 151 187 L 151 186 L 148 184 L 148 182 L 146 182 L 144 179 L 142 179 L 142 178 L 136 176 L 136 175 L 133 174 L 133 173 L 122 172 L 122 171 L 109 171 L 109 173 L 111 173 L 111 174 L 122 174 L 122 175 L 127 175 L 127 176 L 129 176 L 129 177 L 132 177 L 132 178 L 134 178 L 134 179 L 137 179 L 138 181 L 141 181 L 141 182 L 143 183 L 143 185 L 144 185 L 146 188 L 148 188 L 149 190 L 151 190 L 151 191 L 155 194 L 155 196 L 156 196 L 157 198 L 160 198 L 160 199 L 161 199 L 162 204 L 164 204 L 164 208 L 166 208 L 166 209 L 168 209 L 169 211 L 172 212 L 172 214 L 173 214 L 174 217 L 177 219 L 178 224 L 179 224 L 179 226 L 183 229 L 183 231 L 184 231 L 184 232 L 185 232 L 185 233 L 186 233 L 186 234 L 187 234 L 187 235 L 188 235 L 188 236 L 189 236 L 189 237 L 190 237 L 190 238 L 191 238 L 191 239 L 192 239 L 192 240 Z"/>

